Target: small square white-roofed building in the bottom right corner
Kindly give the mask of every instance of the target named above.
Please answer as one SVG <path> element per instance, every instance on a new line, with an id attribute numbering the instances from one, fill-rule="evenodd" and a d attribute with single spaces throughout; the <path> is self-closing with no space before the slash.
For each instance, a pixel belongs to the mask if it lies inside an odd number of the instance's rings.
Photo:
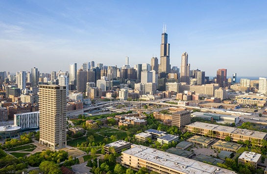
<path id="1" fill-rule="evenodd" d="M 257 165 L 261 161 L 261 154 L 252 151 L 244 151 L 238 158 L 238 163 L 250 163 L 257 168 Z"/>

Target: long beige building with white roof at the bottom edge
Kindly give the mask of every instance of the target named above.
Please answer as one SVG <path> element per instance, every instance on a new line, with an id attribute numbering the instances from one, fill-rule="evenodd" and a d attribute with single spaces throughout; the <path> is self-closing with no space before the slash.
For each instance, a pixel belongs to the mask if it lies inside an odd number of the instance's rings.
<path id="1" fill-rule="evenodd" d="M 122 165 L 136 170 L 145 167 L 148 172 L 159 174 L 235 174 L 217 166 L 145 146 L 132 145 L 131 149 L 121 154 Z"/>

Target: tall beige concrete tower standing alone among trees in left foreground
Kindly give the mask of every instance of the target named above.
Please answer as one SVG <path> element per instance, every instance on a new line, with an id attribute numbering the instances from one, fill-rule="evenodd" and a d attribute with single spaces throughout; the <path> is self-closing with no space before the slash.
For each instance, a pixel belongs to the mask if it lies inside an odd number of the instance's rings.
<path id="1" fill-rule="evenodd" d="M 40 144 L 66 147 L 66 86 L 39 85 Z"/>

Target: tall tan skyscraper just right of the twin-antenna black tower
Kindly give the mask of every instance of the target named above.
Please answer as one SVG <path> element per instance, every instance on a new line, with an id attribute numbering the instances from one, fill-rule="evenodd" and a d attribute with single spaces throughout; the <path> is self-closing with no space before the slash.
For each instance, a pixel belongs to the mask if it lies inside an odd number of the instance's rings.
<path id="1" fill-rule="evenodd" d="M 184 52 L 182 54 L 182 63 L 181 63 L 181 82 L 186 82 L 189 84 L 190 77 L 190 64 L 188 63 L 188 53 Z"/>

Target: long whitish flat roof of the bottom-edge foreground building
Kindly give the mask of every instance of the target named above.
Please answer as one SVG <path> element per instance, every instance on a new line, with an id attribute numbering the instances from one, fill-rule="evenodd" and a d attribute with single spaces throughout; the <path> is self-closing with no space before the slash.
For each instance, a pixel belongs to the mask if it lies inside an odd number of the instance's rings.
<path id="1" fill-rule="evenodd" d="M 125 150 L 122 154 L 133 155 L 159 166 L 166 166 L 174 171 L 186 174 L 235 174 L 234 171 L 198 162 L 189 158 L 174 155 L 157 149 L 138 146 Z"/>

